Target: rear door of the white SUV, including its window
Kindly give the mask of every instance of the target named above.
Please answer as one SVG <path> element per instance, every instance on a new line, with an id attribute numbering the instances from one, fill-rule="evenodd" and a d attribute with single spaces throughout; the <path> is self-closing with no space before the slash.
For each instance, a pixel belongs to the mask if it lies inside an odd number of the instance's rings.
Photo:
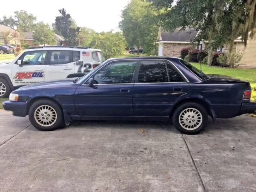
<path id="1" fill-rule="evenodd" d="M 80 51 L 51 50 L 45 68 L 45 80 L 64 79 L 74 74 L 76 61 L 80 60 Z"/>

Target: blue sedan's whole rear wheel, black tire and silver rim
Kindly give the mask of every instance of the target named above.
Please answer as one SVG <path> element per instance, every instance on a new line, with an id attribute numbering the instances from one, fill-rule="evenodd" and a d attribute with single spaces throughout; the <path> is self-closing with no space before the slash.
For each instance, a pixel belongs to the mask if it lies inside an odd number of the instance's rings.
<path id="1" fill-rule="evenodd" d="M 188 102 L 175 110 L 172 122 L 184 134 L 198 134 L 208 123 L 208 113 L 202 105 Z"/>

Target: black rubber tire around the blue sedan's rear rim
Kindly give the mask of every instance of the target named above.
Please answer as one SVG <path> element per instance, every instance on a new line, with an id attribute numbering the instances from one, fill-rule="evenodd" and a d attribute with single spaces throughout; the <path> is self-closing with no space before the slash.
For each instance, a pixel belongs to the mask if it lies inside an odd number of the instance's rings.
<path id="1" fill-rule="evenodd" d="M 201 122 L 200 126 L 198 126 L 198 128 L 196 128 L 194 130 L 188 130 L 189 127 L 188 127 L 188 129 L 183 128 L 182 124 L 180 124 L 180 122 L 179 122 L 180 114 L 188 108 L 194 108 L 202 114 L 202 122 Z M 194 117 L 194 116 L 192 116 L 192 117 Z M 188 121 L 186 121 L 187 119 L 184 120 L 184 123 L 188 124 L 188 123 L 192 122 L 191 120 L 195 121 L 192 117 L 191 117 L 191 119 L 188 119 Z M 190 120 L 190 122 L 189 122 L 189 120 Z M 176 129 L 179 130 L 181 133 L 189 134 L 189 135 L 198 134 L 206 127 L 206 125 L 208 123 L 208 113 L 202 105 L 200 105 L 198 103 L 194 103 L 194 102 L 187 102 L 187 103 L 184 103 L 184 104 L 181 104 L 180 106 L 178 106 L 178 108 L 174 111 L 174 114 L 172 115 L 172 122 L 173 122 L 173 125 L 176 127 Z M 183 124 L 183 126 L 184 126 L 184 124 Z"/>

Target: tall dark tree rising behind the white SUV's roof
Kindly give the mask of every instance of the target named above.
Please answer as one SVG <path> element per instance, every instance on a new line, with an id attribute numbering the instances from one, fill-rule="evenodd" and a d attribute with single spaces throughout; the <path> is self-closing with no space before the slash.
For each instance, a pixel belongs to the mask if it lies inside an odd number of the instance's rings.
<path id="1" fill-rule="evenodd" d="M 55 28 L 64 36 L 68 46 L 77 45 L 80 27 L 76 27 L 76 23 L 64 8 L 60 9 L 59 12 L 61 16 L 55 18 Z"/>

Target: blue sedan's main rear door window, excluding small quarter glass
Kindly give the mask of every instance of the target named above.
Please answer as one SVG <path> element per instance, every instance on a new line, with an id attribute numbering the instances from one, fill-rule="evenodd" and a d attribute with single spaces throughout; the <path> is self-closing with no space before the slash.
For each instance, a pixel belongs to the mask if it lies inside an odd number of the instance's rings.
<path id="1" fill-rule="evenodd" d="M 166 62 L 163 61 L 142 61 L 138 83 L 168 82 Z"/>

